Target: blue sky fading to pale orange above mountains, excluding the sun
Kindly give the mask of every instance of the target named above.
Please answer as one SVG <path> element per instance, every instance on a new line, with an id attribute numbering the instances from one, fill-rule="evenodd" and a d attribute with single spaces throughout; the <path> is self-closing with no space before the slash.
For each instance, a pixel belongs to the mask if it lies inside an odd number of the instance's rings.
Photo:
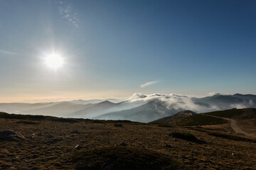
<path id="1" fill-rule="evenodd" d="M 256 1 L 0 0 L 0 102 L 256 94 L 255 63 Z"/>

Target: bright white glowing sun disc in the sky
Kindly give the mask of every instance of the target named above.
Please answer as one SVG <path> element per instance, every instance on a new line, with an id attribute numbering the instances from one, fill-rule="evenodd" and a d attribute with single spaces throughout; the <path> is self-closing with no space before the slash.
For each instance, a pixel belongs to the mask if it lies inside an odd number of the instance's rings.
<path id="1" fill-rule="evenodd" d="M 63 57 L 56 54 L 51 54 L 45 58 L 46 64 L 52 69 L 58 69 L 63 66 Z"/>

